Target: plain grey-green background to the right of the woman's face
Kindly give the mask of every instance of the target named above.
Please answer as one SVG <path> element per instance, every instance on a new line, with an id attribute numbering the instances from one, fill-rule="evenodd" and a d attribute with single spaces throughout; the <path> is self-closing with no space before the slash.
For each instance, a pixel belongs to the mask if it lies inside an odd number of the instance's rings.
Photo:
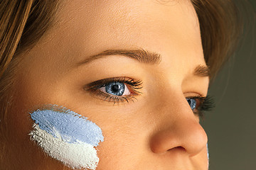
<path id="1" fill-rule="evenodd" d="M 210 85 L 215 109 L 201 123 L 208 134 L 209 170 L 256 169 L 256 0 L 237 0 L 242 42 Z"/>

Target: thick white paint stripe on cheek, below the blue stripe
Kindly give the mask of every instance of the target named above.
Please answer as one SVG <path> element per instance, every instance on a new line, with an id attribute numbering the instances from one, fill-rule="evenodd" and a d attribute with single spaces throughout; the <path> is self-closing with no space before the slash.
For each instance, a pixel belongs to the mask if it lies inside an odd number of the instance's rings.
<path id="1" fill-rule="evenodd" d="M 96 169 L 99 162 L 97 150 L 85 142 L 68 143 L 61 139 L 60 134 L 55 131 L 55 136 L 46 130 L 41 130 L 35 123 L 29 134 L 50 157 L 58 159 L 72 169 Z"/>

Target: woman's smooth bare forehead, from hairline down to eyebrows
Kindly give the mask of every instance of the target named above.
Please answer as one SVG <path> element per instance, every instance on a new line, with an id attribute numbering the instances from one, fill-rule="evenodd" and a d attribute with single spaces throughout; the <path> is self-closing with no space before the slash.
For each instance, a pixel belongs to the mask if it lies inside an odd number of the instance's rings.
<path id="1" fill-rule="evenodd" d="M 170 63 L 176 75 L 205 64 L 198 18 L 189 0 L 67 0 L 55 21 L 27 63 L 65 74 L 102 51 L 140 48 L 162 55 L 161 72 Z"/>

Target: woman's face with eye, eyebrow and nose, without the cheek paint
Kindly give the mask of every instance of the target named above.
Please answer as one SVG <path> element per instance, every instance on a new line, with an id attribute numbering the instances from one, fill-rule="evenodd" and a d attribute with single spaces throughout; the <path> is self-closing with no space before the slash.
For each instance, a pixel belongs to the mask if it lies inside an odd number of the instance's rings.
<path id="1" fill-rule="evenodd" d="M 196 72 L 206 62 L 190 1 L 65 1 L 55 19 L 20 56 L 10 166 L 63 168 L 28 135 L 29 113 L 58 105 L 102 130 L 97 170 L 208 169 L 206 132 L 186 100 L 208 91 L 207 73 Z"/>

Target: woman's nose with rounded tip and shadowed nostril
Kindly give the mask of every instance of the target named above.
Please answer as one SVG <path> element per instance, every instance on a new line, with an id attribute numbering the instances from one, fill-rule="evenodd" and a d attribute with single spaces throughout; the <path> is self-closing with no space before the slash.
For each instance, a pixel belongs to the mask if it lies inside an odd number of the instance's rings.
<path id="1" fill-rule="evenodd" d="M 171 106 L 161 108 L 158 128 L 150 140 L 151 151 L 156 154 L 166 152 L 186 152 L 193 157 L 207 144 L 207 135 L 198 118 L 182 98 Z"/>

